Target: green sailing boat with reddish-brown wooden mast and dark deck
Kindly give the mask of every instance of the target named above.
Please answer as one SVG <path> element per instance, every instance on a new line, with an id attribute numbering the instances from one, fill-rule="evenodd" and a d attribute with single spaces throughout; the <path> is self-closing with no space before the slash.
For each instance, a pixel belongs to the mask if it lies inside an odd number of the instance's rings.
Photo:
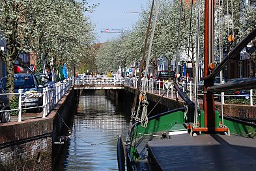
<path id="1" fill-rule="evenodd" d="M 213 21 L 214 12 L 207 3 L 214 1 L 206 1 L 205 6 L 206 14 Z M 214 78 L 256 37 L 256 28 L 214 68 L 209 60 L 213 43 L 208 42 L 214 38 L 207 17 L 205 25 L 205 72 L 201 78 L 204 109 L 199 111 L 197 101 L 191 101 L 174 82 L 184 107 L 147 118 L 147 93 L 143 81 L 141 84 L 138 79 L 137 85 L 142 86 L 140 91 L 137 87 L 130 127 L 125 139 L 119 136 L 117 142 L 119 170 L 255 170 L 256 124 L 220 114 L 214 109 L 214 93 L 255 88 L 256 77 L 223 85 L 214 85 Z"/>

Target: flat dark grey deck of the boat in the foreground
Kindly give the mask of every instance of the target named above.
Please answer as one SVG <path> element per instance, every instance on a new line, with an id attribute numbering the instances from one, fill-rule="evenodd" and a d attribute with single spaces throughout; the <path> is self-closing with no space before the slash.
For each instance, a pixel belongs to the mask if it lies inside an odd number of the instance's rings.
<path id="1" fill-rule="evenodd" d="M 151 170 L 256 170 L 256 140 L 238 136 L 174 135 L 148 142 Z"/>

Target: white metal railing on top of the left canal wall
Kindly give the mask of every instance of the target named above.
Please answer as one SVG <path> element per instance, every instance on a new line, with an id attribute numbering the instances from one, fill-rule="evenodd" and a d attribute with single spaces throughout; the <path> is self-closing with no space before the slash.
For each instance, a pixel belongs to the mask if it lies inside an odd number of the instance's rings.
<path id="1" fill-rule="evenodd" d="M 68 91 L 72 85 L 72 79 L 68 78 L 64 81 L 54 83 L 53 87 L 43 88 L 42 92 L 28 91 L 22 92 L 22 89 L 18 90 L 18 93 L 6 93 L 0 94 L 0 96 L 18 96 L 18 109 L 2 110 L 0 112 L 18 111 L 18 122 L 21 122 L 21 111 L 25 109 L 38 109 L 42 108 L 42 118 L 46 118 L 50 114 L 51 109 L 59 102 L 63 95 Z M 27 99 L 40 99 L 42 98 L 42 105 L 36 107 L 25 107 L 25 98 Z M 33 103 L 33 102 L 32 102 Z"/>

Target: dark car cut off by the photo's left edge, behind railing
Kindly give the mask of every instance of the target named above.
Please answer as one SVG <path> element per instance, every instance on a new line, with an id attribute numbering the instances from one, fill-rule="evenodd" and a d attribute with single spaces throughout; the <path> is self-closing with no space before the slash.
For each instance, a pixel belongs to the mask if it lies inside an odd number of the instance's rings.
<path id="1" fill-rule="evenodd" d="M 1 123 L 5 123 L 5 122 L 10 122 L 10 103 L 9 103 L 9 99 L 7 95 L 3 95 L 5 94 L 5 90 L 0 87 L 0 111 L 5 111 L 5 112 L 0 112 L 0 120 Z"/>

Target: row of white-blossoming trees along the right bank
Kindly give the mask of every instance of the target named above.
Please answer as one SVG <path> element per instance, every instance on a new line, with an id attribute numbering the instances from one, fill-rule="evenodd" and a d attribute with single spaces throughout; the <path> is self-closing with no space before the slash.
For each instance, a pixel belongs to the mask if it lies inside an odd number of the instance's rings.
<path id="1" fill-rule="evenodd" d="M 177 58 L 178 61 L 186 61 L 188 59 L 195 62 L 198 13 L 200 16 L 200 33 L 198 35 L 200 40 L 199 60 L 203 60 L 205 2 L 201 1 L 201 10 L 199 11 L 199 4 L 198 1 L 196 1 L 196 3 L 193 4 L 191 11 L 191 4 L 182 1 L 181 12 L 180 2 L 181 1 L 170 0 L 161 1 L 160 12 L 152 44 L 152 55 L 150 60 L 150 64 L 152 66 L 156 66 L 156 59 L 163 56 L 167 57 L 169 61 Z M 190 3 L 191 2 L 192 1 L 190 1 Z M 219 43 L 221 42 L 223 47 L 222 49 L 225 49 L 227 47 L 228 30 L 230 32 L 232 30 L 231 1 L 229 1 L 229 17 L 227 15 L 227 1 L 223 1 L 223 5 L 221 5 L 221 7 L 218 2 L 219 1 L 216 1 L 214 20 L 216 21 L 214 30 L 215 46 L 219 47 Z M 145 34 L 147 31 L 147 24 L 149 21 L 150 7 L 144 7 L 142 11 L 143 13 L 140 16 L 139 21 L 137 21 L 130 33 L 122 34 L 119 38 L 106 42 L 104 46 L 99 49 L 96 55 L 98 70 L 111 71 L 117 69 L 119 66 L 118 63 L 120 62 L 122 62 L 124 66 L 128 66 L 133 62 L 140 61 L 145 41 Z M 191 14 L 192 20 L 190 20 Z M 229 20 L 227 20 L 227 18 L 229 18 Z M 152 21 L 153 20 L 154 15 Z M 253 7 L 253 4 L 245 5 L 242 1 L 233 1 L 233 23 L 236 41 L 231 44 L 231 48 L 234 47 L 246 34 L 248 34 L 249 31 L 255 28 L 256 8 Z M 179 25 L 180 30 L 178 30 Z M 151 31 L 152 25 L 150 27 L 150 32 Z M 180 38 L 178 38 L 178 32 L 180 32 Z M 221 41 L 219 37 L 221 37 Z M 188 46 L 188 44 L 190 46 Z M 215 51 L 215 57 L 219 54 L 219 51 Z"/>

